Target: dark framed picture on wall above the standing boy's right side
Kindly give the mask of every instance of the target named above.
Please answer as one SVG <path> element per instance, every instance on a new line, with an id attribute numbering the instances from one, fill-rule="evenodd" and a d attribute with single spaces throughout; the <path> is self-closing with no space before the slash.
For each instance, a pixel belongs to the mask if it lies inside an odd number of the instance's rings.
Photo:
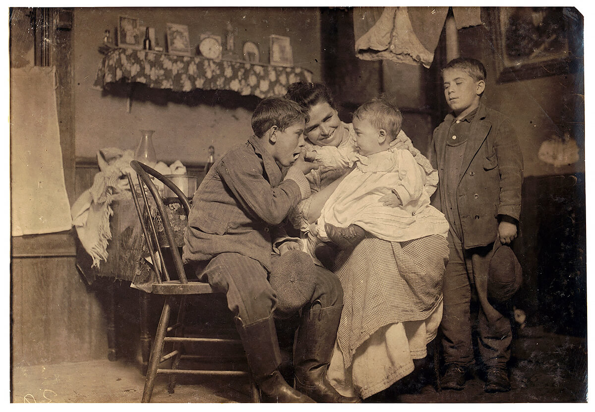
<path id="1" fill-rule="evenodd" d="M 572 45 L 564 7 L 499 7 L 494 16 L 498 82 L 569 73 Z"/>

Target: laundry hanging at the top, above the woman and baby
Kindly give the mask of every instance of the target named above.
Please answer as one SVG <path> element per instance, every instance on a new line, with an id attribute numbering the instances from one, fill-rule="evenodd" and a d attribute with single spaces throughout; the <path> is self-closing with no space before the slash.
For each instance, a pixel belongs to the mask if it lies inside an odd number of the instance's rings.
<path id="1" fill-rule="evenodd" d="M 355 54 L 430 67 L 448 7 L 355 7 Z M 480 7 L 453 7 L 457 29 L 481 24 Z"/>

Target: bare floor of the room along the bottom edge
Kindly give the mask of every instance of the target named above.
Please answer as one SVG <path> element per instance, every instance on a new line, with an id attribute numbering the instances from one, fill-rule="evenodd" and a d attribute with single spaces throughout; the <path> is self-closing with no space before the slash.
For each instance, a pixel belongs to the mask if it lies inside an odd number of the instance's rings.
<path id="1" fill-rule="evenodd" d="M 511 361 L 512 391 L 486 394 L 480 376 L 462 391 L 437 392 L 431 368 L 421 367 L 411 379 L 366 399 L 366 402 L 585 402 L 585 340 L 527 328 L 515 340 Z M 152 402 L 249 402 L 245 379 L 188 377 L 168 394 L 159 377 Z M 140 402 L 144 377 L 137 365 L 97 360 L 81 363 L 15 367 L 12 402 Z"/>

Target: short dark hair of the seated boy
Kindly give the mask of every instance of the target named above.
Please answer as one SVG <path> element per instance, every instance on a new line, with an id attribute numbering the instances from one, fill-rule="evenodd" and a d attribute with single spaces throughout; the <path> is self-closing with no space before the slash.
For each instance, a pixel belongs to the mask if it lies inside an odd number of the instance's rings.
<path id="1" fill-rule="evenodd" d="M 262 138 L 273 126 L 284 132 L 297 121 L 304 120 L 309 120 L 308 113 L 297 102 L 283 97 L 268 97 L 263 99 L 252 113 L 252 131 Z"/>

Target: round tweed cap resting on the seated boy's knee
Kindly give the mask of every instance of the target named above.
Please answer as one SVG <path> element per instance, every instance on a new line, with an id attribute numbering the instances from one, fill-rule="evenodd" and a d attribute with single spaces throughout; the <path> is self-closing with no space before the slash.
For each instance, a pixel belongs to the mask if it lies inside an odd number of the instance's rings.
<path id="1" fill-rule="evenodd" d="M 310 301 L 316 284 L 316 266 L 308 254 L 289 250 L 281 255 L 269 276 L 277 294 L 275 316 L 290 317 Z"/>

